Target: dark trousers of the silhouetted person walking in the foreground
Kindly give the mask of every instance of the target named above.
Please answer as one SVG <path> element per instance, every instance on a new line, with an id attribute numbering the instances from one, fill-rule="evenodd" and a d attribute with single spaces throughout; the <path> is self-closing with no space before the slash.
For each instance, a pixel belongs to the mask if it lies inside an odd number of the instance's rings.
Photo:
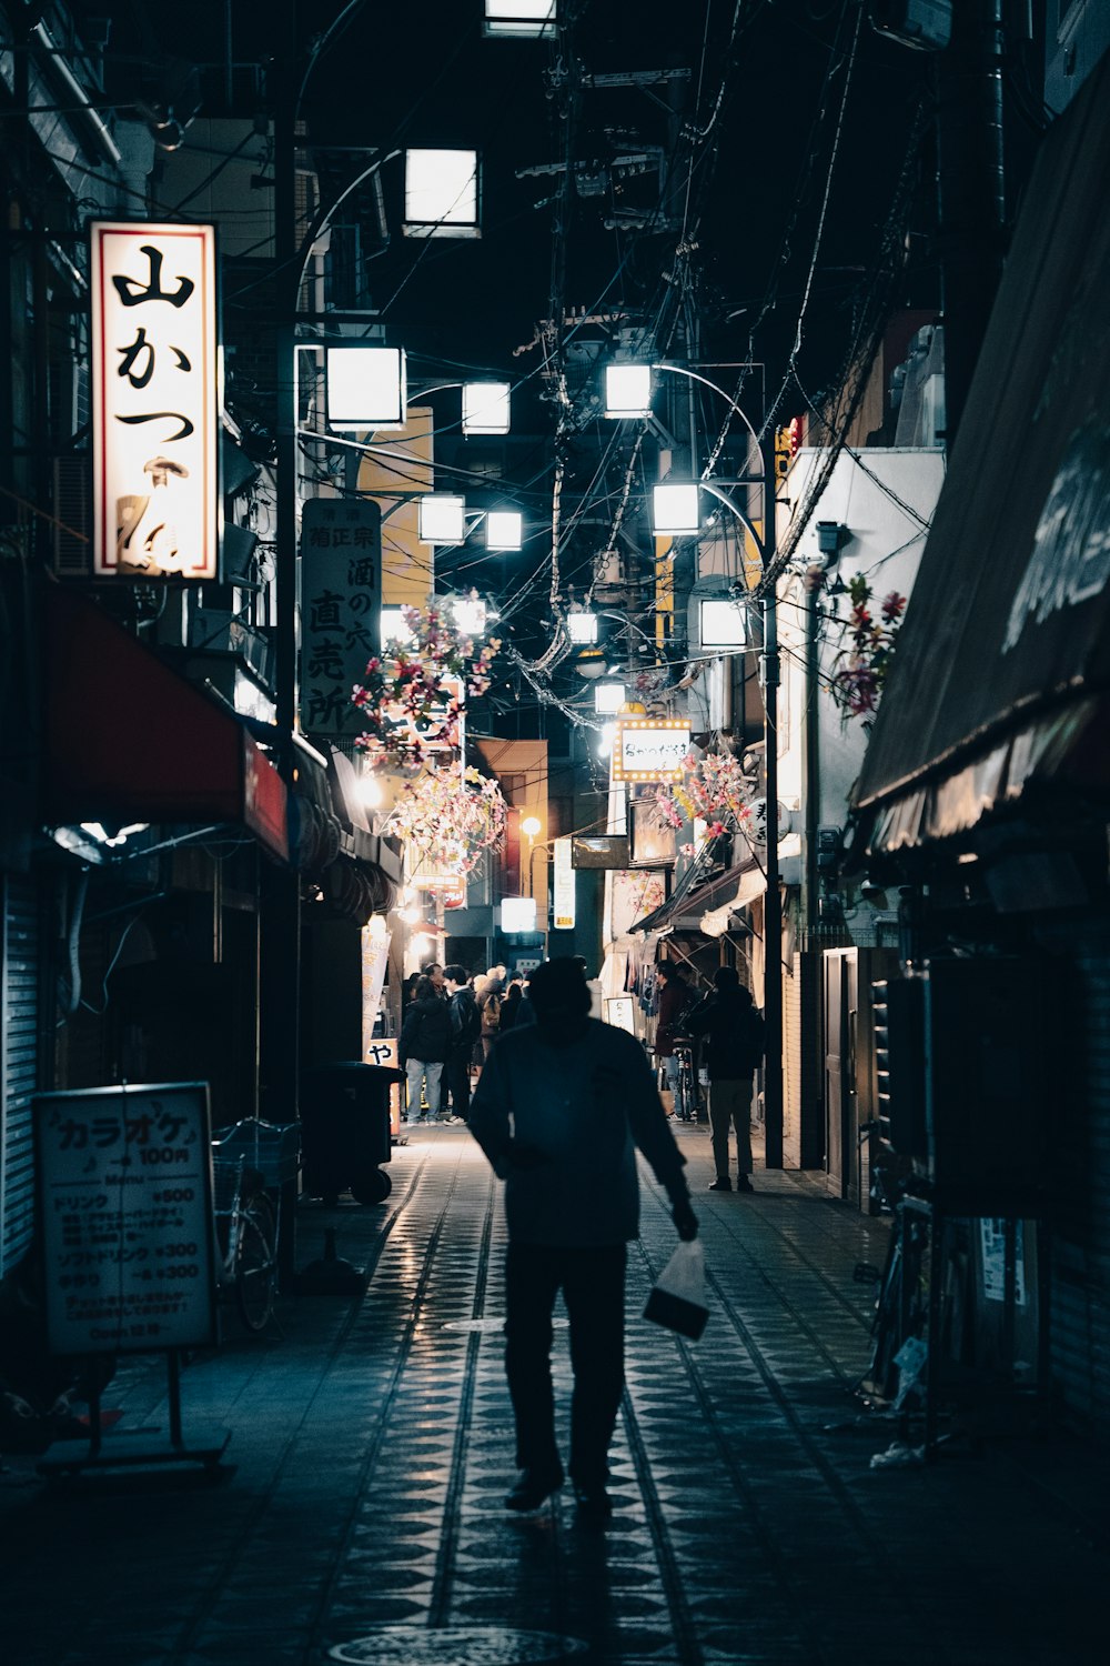
<path id="1" fill-rule="evenodd" d="M 571 1476 L 604 1486 L 624 1389 L 624 1245 L 556 1250 L 509 1245 L 504 1268 L 504 1371 L 521 1469 L 562 1474 L 554 1436 L 551 1314 L 559 1289 L 571 1321 Z"/>

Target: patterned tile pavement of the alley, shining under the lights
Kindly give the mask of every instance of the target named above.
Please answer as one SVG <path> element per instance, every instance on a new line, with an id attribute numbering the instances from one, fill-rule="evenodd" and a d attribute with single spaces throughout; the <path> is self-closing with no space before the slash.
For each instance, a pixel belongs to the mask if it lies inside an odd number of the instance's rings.
<path id="1" fill-rule="evenodd" d="M 181 1464 L 45 1483 L 33 1456 L 3 1459 L 5 1659 L 1105 1659 L 1105 1456 L 987 1429 L 929 1466 L 874 1464 L 899 1431 L 855 1393 L 874 1306 L 855 1268 L 882 1264 L 885 1223 L 822 1176 L 757 1168 L 754 1196 L 707 1196 L 709 1136 L 679 1140 L 712 1313 L 696 1344 L 639 1316 L 674 1245 L 644 1171 L 604 1531 L 569 1486 L 534 1516 L 503 1508 L 499 1186 L 466 1130 L 421 1130 L 381 1206 L 301 1205 L 298 1264 L 333 1228 L 364 1294 L 283 1298 L 261 1336 L 230 1318 L 185 1369 L 186 1443 L 231 1436 L 215 1484 Z M 121 1363 L 107 1449 L 165 1429 L 165 1386 L 160 1358 Z"/>

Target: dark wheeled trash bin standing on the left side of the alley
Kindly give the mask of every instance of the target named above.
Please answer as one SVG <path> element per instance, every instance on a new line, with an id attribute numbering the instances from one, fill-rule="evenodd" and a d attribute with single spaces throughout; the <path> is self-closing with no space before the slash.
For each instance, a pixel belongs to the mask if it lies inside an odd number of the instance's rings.
<path id="1" fill-rule="evenodd" d="M 404 1073 L 386 1065 L 316 1065 L 301 1075 L 305 1190 L 325 1203 L 349 1191 L 381 1203 L 393 1181 L 379 1165 L 389 1151 L 389 1090 Z"/>

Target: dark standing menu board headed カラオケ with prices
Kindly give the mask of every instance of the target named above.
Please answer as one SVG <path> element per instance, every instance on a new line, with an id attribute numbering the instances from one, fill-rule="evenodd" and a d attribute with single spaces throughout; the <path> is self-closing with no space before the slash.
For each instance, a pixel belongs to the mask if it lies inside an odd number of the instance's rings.
<path id="1" fill-rule="evenodd" d="M 208 1085 L 43 1093 L 35 1146 L 50 1351 L 215 1341 Z"/>

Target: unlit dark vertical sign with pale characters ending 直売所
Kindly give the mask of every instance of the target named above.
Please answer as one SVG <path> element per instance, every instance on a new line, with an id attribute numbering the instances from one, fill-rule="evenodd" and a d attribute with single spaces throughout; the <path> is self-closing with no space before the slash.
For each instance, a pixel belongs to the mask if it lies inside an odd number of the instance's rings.
<path id="1" fill-rule="evenodd" d="M 310 498 L 301 511 L 301 726 L 361 735 L 351 691 L 379 651 L 381 510 L 371 498 Z"/>

